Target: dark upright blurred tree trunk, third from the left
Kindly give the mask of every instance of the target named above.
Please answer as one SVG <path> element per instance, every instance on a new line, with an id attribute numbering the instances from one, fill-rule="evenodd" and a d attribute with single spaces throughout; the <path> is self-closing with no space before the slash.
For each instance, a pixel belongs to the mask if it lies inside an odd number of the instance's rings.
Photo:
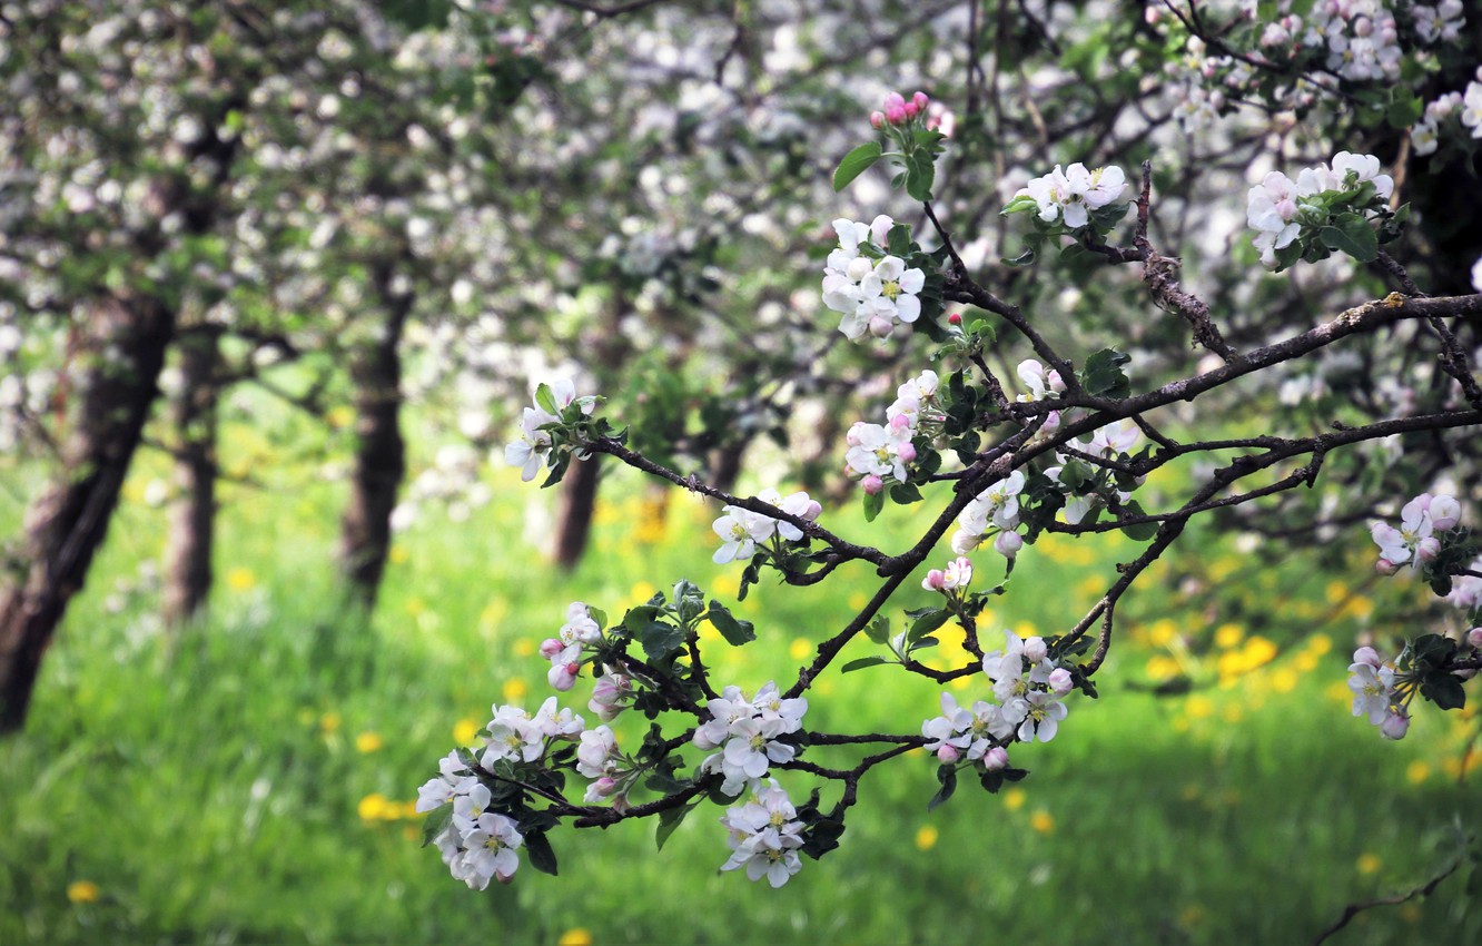
<path id="1" fill-rule="evenodd" d="M 391 553 L 391 510 L 406 476 L 402 439 L 402 356 L 397 347 L 412 298 L 390 298 L 390 267 L 375 273 L 376 288 L 390 301 L 385 331 L 359 347 L 350 362 L 356 402 L 356 463 L 350 504 L 339 523 L 339 565 L 350 595 L 375 606 L 381 575 Z"/>

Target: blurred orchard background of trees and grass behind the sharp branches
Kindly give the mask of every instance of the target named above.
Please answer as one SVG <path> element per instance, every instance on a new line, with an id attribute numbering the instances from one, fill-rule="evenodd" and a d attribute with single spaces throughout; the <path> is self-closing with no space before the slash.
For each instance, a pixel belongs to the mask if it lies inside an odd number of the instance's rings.
<path id="1" fill-rule="evenodd" d="M 1245 188 L 1340 147 L 1409 162 L 1396 254 L 1470 292 L 1472 151 L 1408 132 L 1466 85 L 1482 16 L 1334 101 L 1211 92 L 1190 34 L 1292 6 L 0 6 L 0 942 L 1297 943 L 1381 899 L 1332 942 L 1482 939 L 1475 709 L 1384 743 L 1346 685 L 1355 646 L 1458 620 L 1374 574 L 1366 523 L 1443 469 L 1472 509 L 1469 437 L 1378 442 L 1322 489 L 1200 520 L 1119 611 L 1103 700 L 1017 756 L 1030 780 L 928 814 L 917 752 L 782 890 L 717 873 L 723 830 L 695 817 L 662 853 L 648 821 L 569 832 L 560 876 L 474 893 L 413 811 L 491 703 L 545 697 L 568 602 L 738 592 L 713 504 L 612 463 L 520 483 L 502 445 L 535 383 L 574 377 L 648 455 L 740 495 L 803 488 L 843 535 L 919 535 L 916 507 L 867 525 L 840 469 L 926 348 L 843 343 L 818 291 L 830 221 L 920 222 L 880 171 L 830 185 L 891 90 L 926 90 L 950 135 L 937 208 L 965 264 L 1071 350 L 1119 343 L 1135 384 L 1199 357 L 1135 274 L 1000 262 L 999 208 L 1055 163 L 1152 159 L 1159 245 L 1237 344 L 1389 291 L 1343 259 L 1266 276 L 1249 245 Z M 1418 4 L 1369 6 L 1414 36 Z M 1243 387 L 1230 436 L 1441 396 L 1415 338 L 1365 344 Z M 1129 547 L 1045 537 L 986 626 L 1063 632 Z M 726 679 L 793 675 L 871 578 L 763 581 Z M 928 599 L 911 581 L 892 608 Z M 821 681 L 811 712 L 937 713 L 940 687 L 871 673 Z"/>

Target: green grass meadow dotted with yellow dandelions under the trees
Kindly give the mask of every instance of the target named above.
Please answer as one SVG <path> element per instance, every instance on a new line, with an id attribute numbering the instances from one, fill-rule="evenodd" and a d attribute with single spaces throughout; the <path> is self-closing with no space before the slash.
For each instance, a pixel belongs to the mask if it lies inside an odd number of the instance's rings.
<path id="1" fill-rule="evenodd" d="M 0 943 L 1307 943 L 1344 904 L 1439 873 L 1478 827 L 1473 710 L 1427 706 L 1402 743 L 1349 712 L 1355 641 L 1414 612 L 1417 589 L 1355 590 L 1196 535 L 1197 560 L 1160 565 L 1129 599 L 1101 700 L 1073 697 L 1052 744 L 1015 752 L 1030 777 L 997 796 L 968 783 L 928 814 L 935 765 L 917 753 L 865 780 L 840 850 L 782 890 L 719 873 L 720 813 L 701 808 L 662 853 L 652 823 L 557 830 L 560 876 L 526 864 L 473 893 L 421 847 L 416 786 L 491 703 L 544 698 L 536 646 L 569 601 L 619 615 L 680 577 L 734 598 L 740 568 L 710 562 L 714 510 L 615 476 L 566 575 L 532 544 L 551 497 L 528 509 L 534 488 L 496 472 L 467 522 L 430 509 L 397 538 L 366 621 L 333 584 L 336 483 L 231 488 L 210 618 L 170 633 L 147 568 L 163 543 L 150 463 L 25 732 L 0 741 Z M 3 494 L 7 532 L 24 492 Z M 854 510 L 825 515 L 867 534 Z M 885 526 L 901 544 L 911 510 Z M 1356 560 L 1365 541 L 1352 537 Z M 1129 549 L 1026 549 L 993 621 L 1054 633 Z M 1190 598 L 1189 569 L 1221 595 Z M 871 590 L 865 569 L 836 578 L 765 581 L 737 606 L 760 639 L 722 645 L 714 679 L 791 681 Z M 891 608 L 925 602 L 910 583 Z M 1153 692 L 1178 673 L 1189 692 Z M 874 667 L 823 681 L 809 719 L 916 732 L 937 695 Z M 1482 942 L 1466 873 L 1331 942 Z"/>

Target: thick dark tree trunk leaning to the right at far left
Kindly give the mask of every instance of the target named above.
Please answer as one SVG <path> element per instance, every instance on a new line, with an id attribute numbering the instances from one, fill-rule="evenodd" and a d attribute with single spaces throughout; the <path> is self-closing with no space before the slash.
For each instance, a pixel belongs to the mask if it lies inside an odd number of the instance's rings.
<path id="1" fill-rule="evenodd" d="M 108 532 L 173 331 L 175 313 L 153 298 L 107 298 L 89 316 L 82 344 L 96 360 L 79 384 L 62 470 L 27 510 L 19 560 L 0 580 L 0 732 L 25 725 L 41 655 Z"/>

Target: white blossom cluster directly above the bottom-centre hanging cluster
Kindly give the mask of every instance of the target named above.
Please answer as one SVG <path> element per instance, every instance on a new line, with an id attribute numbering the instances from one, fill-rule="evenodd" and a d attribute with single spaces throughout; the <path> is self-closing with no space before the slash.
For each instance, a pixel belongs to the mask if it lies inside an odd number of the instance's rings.
<path id="1" fill-rule="evenodd" d="M 778 738 L 802 728 L 808 700 L 784 700 L 777 684 L 769 681 L 753 700 L 740 687 L 726 687 L 705 709 L 710 722 L 701 724 L 691 741 L 705 752 L 720 749 L 700 764 L 700 771 L 722 773 L 722 793 L 735 798 L 750 781 L 765 777 L 772 762 L 790 762 L 797 755 Z"/>

